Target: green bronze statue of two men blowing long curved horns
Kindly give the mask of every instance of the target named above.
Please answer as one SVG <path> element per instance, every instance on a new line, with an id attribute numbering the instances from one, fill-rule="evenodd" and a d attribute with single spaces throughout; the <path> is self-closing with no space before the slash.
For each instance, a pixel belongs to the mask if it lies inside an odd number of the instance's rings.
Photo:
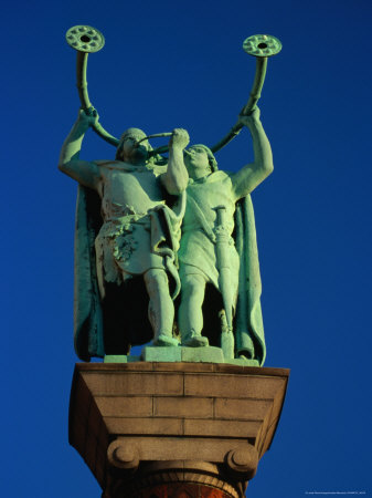
<path id="1" fill-rule="evenodd" d="M 77 50 L 82 103 L 60 157 L 60 169 L 79 184 L 77 355 L 84 361 L 93 356 L 117 361 L 129 354 L 131 345 L 151 341 L 152 347 L 142 351 L 145 360 L 262 365 L 266 347 L 249 194 L 273 170 L 256 104 L 267 58 L 280 51 L 280 42 L 269 35 L 245 40 L 244 50 L 257 62 L 247 104 L 214 147 L 185 149 L 189 135 L 181 128 L 149 136 L 129 128 L 120 139 L 107 133 L 86 83 L 87 55 L 100 50 L 105 39 L 98 30 L 82 25 L 71 28 L 66 39 Z M 237 173 L 219 170 L 214 153 L 244 126 L 253 138 L 254 162 Z M 79 158 L 89 127 L 116 146 L 115 159 Z M 170 136 L 169 146 L 153 151 L 148 142 L 153 136 Z M 160 155 L 164 152 L 168 158 Z"/>

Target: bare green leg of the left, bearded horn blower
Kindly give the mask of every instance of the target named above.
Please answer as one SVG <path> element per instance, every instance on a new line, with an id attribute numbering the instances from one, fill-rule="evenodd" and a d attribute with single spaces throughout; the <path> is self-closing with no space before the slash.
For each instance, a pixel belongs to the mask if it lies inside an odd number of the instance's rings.
<path id="1" fill-rule="evenodd" d="M 149 320 L 153 330 L 153 345 L 178 345 L 172 338 L 174 305 L 169 294 L 169 282 L 164 270 L 151 269 L 145 276 L 145 284 L 149 294 Z"/>

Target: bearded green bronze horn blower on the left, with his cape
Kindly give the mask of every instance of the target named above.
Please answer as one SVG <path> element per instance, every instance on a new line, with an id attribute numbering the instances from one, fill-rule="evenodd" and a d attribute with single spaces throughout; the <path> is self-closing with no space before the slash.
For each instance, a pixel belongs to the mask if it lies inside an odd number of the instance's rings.
<path id="1" fill-rule="evenodd" d="M 75 239 L 75 350 L 87 361 L 127 354 L 131 344 L 178 345 L 172 300 L 188 173 L 184 129 L 174 129 L 166 166 L 149 159 L 142 131 L 127 129 L 115 160 L 79 158 L 97 112 L 81 110 L 60 169 L 79 184 Z M 148 320 L 146 319 L 148 317 Z"/>

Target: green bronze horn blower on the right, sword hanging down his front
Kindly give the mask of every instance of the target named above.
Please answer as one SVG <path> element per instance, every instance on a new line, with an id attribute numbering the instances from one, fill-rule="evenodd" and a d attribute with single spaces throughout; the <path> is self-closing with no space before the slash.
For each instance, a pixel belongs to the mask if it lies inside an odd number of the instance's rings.
<path id="1" fill-rule="evenodd" d="M 259 110 L 241 116 L 240 123 L 251 132 L 254 163 L 237 173 L 217 170 L 204 145 L 184 152 L 190 180 L 179 250 L 178 321 L 182 345 L 210 343 L 222 346 L 225 359 L 235 355 L 263 364 L 261 278 L 249 194 L 273 172 L 273 157 Z"/>

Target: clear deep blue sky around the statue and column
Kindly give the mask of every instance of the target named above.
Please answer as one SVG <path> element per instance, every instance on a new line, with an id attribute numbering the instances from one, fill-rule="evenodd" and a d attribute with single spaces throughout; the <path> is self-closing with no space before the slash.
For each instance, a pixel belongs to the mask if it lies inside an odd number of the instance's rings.
<path id="1" fill-rule="evenodd" d="M 56 165 L 79 106 L 64 34 L 79 23 L 106 37 L 88 68 L 104 126 L 184 127 L 193 143 L 220 139 L 248 97 L 243 40 L 283 41 L 261 102 L 275 172 L 253 200 L 266 365 L 291 377 L 248 496 L 371 495 L 370 1 L 21 0 L 2 20 L 1 495 L 100 496 L 67 444 L 76 186 Z M 244 131 L 220 167 L 252 154 Z M 83 157 L 113 156 L 89 133 Z"/>

